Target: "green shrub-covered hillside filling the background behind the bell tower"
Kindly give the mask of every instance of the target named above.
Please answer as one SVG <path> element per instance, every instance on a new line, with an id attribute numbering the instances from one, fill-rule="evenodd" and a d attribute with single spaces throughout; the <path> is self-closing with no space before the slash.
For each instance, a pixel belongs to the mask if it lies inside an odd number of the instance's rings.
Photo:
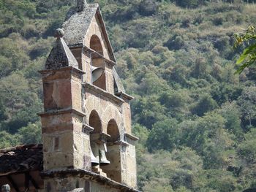
<path id="1" fill-rule="evenodd" d="M 254 1 L 100 0 L 132 101 L 142 191 L 256 188 L 256 70 L 234 74 Z M 248 4 L 249 3 L 249 4 Z M 72 0 L 0 0 L 0 147 L 40 142 L 43 69 Z"/>

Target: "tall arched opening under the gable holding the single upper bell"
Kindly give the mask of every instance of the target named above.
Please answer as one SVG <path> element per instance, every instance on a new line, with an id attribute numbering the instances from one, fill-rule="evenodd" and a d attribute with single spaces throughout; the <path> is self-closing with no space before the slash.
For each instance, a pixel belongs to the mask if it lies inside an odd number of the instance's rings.
<path id="1" fill-rule="evenodd" d="M 97 87 L 106 90 L 103 49 L 97 35 L 91 36 L 90 48 L 96 52 L 91 53 L 91 82 Z"/>

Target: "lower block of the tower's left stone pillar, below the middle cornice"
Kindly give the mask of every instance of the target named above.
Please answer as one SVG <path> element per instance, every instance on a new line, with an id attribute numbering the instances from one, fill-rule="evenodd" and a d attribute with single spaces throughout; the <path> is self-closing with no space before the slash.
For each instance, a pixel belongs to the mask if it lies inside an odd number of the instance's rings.
<path id="1" fill-rule="evenodd" d="M 45 120 L 48 123 L 44 124 Z M 65 120 L 69 125 L 61 126 Z M 44 125 L 42 142 L 45 170 L 63 168 L 91 170 L 89 133 L 83 132 L 80 115 L 69 112 L 42 116 L 42 125 Z"/>

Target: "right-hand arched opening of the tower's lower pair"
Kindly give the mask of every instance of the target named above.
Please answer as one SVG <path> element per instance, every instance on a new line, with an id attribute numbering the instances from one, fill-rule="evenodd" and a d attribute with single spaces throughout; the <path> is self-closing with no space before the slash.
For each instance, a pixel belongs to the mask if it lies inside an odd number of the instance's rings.
<path id="1" fill-rule="evenodd" d="M 108 122 L 107 133 L 110 134 L 110 138 L 107 140 L 108 151 L 106 156 L 111 163 L 107 166 L 102 166 L 102 170 L 111 180 L 121 183 L 121 146 L 118 143 L 120 134 L 116 120 L 111 119 Z"/>

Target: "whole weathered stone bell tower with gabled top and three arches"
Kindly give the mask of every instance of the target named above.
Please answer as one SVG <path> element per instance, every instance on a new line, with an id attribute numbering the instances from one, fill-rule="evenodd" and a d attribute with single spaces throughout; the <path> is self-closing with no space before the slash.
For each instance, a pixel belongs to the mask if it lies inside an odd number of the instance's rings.
<path id="1" fill-rule="evenodd" d="M 67 13 L 42 74 L 44 191 L 137 191 L 129 96 L 98 4 Z"/>

